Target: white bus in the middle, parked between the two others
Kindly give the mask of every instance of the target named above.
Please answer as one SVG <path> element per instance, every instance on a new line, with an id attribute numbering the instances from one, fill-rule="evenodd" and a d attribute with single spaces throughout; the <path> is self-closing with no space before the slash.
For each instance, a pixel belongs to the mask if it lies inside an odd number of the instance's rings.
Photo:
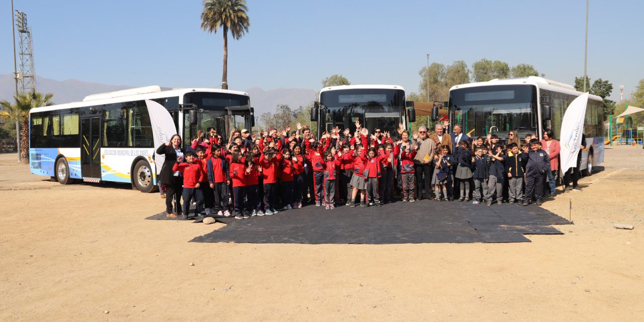
<path id="1" fill-rule="evenodd" d="M 413 102 L 406 102 L 404 88 L 396 85 L 342 85 L 320 90 L 319 102 L 311 109 L 317 133 L 336 126 L 355 131 L 355 121 L 371 133 L 375 129 L 392 134 L 403 123 L 415 121 Z"/>

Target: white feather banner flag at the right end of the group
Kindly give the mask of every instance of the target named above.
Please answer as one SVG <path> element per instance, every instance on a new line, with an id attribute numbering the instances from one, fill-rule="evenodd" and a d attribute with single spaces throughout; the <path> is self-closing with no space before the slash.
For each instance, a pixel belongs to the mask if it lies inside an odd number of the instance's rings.
<path id="1" fill-rule="evenodd" d="M 560 133 L 560 162 L 562 175 L 571 167 L 577 166 L 577 155 L 582 145 L 583 120 L 586 117 L 588 93 L 573 100 L 564 113 Z"/>

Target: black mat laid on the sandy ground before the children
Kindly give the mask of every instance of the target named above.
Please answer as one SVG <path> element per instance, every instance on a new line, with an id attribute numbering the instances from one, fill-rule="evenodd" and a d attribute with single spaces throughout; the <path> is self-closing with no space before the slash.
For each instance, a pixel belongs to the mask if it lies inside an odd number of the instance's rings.
<path id="1" fill-rule="evenodd" d="M 562 234 L 550 225 L 567 220 L 536 205 L 474 205 L 465 202 L 396 202 L 384 207 L 326 210 L 307 206 L 246 220 L 217 218 L 227 225 L 191 242 L 216 243 L 514 243 L 524 234 Z"/>

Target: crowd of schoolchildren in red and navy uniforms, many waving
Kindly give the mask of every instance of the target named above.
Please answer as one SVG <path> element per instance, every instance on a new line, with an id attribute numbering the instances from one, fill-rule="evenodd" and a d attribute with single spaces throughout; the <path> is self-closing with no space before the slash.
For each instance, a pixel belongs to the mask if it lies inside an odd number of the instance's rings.
<path id="1" fill-rule="evenodd" d="M 199 132 L 173 166 L 183 177 L 184 216 L 193 200 L 196 216 L 242 219 L 301 208 L 307 202 L 326 209 L 339 203 L 381 206 L 392 202 L 395 187 L 413 189 L 419 144 L 393 142 L 379 129 L 370 134 L 358 122 L 356 128 L 353 136 L 348 129 L 341 136 L 336 128 L 319 140 L 299 124 L 294 133 L 287 127 L 260 137 L 233 130 L 227 144 L 212 130 L 209 138 Z M 433 187 L 425 189 L 435 189 L 435 200 L 453 200 L 458 187 L 460 201 L 469 201 L 471 192 L 476 202 L 491 205 L 495 199 L 502 203 L 507 183 L 510 203 L 527 205 L 534 197 L 541 204 L 549 158 L 538 140 L 505 147 L 495 137 L 486 141 L 460 141 L 453 152 L 451 146 L 437 147 L 431 160 Z M 399 192 L 403 202 L 415 202 L 413 194 L 410 198 Z"/>

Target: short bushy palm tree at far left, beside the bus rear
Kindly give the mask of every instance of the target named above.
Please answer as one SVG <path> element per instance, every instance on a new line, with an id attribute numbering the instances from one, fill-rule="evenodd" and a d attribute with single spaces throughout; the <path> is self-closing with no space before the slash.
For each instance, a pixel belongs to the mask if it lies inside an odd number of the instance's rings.
<path id="1" fill-rule="evenodd" d="M 20 153 L 18 155 L 18 162 L 27 163 L 29 158 L 29 111 L 32 108 L 39 108 L 41 106 L 53 105 L 51 102 L 53 97 L 52 93 L 39 93 L 35 90 L 30 93 L 19 93 L 14 96 L 14 103 L 8 100 L 0 102 L 3 111 L 0 111 L 0 117 L 7 117 L 15 120 L 15 139 L 20 142 Z M 18 124 L 22 124 L 22 128 L 18 131 Z"/>

